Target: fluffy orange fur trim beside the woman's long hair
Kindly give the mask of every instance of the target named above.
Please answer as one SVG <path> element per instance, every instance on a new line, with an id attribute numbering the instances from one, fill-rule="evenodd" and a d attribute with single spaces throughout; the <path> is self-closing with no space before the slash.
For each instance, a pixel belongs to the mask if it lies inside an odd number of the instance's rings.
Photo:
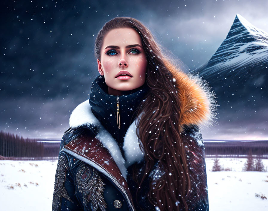
<path id="1" fill-rule="evenodd" d="M 198 75 L 183 73 L 173 64 L 167 62 L 166 67 L 173 74 L 178 88 L 180 106 L 180 132 L 184 125 L 210 126 L 217 119 L 217 102 L 215 93 L 208 83 Z"/>

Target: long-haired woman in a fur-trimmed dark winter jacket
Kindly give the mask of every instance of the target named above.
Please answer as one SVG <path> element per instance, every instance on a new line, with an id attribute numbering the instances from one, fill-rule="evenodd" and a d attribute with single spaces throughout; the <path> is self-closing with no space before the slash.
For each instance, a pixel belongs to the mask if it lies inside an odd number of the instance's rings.
<path id="1" fill-rule="evenodd" d="M 107 22 L 95 56 L 100 75 L 61 141 L 53 210 L 208 210 L 198 127 L 216 117 L 214 94 L 134 18 Z"/>

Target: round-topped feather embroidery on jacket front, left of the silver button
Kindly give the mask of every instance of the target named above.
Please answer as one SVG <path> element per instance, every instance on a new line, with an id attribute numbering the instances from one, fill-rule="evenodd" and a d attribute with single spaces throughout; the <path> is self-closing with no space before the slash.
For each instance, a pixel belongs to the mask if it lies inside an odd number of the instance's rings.
<path id="1" fill-rule="evenodd" d="M 100 210 L 106 211 L 106 202 L 103 199 L 103 185 L 105 184 L 95 168 L 85 163 L 81 164 L 76 173 L 76 184 L 86 207 L 87 203 L 91 201 L 92 211 L 96 211 L 98 207 Z"/>

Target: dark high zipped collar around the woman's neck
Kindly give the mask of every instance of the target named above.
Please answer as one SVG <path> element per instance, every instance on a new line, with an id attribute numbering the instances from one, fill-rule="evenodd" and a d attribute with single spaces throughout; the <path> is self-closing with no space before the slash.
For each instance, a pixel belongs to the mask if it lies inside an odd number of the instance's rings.
<path id="1" fill-rule="evenodd" d="M 92 113 L 118 142 L 120 149 L 123 147 L 124 135 L 136 117 L 136 109 L 141 100 L 149 91 L 144 83 L 139 88 L 122 91 L 121 96 L 109 95 L 104 76 L 97 76 L 92 82 L 89 104 Z M 119 99 L 120 129 L 117 125 L 117 97 Z"/>

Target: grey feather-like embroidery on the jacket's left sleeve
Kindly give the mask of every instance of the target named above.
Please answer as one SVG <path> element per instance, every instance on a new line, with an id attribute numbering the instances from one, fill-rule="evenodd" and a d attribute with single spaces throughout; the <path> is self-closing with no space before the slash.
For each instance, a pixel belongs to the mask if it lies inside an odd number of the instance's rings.
<path id="1" fill-rule="evenodd" d="M 58 165 L 57 165 L 56 178 L 55 178 L 55 184 L 54 184 L 53 205 L 52 205 L 53 211 L 57 211 L 59 209 L 61 197 L 64 197 L 68 201 L 71 201 L 64 187 L 67 169 L 68 167 L 67 167 L 66 158 L 64 156 L 60 156 Z"/>

